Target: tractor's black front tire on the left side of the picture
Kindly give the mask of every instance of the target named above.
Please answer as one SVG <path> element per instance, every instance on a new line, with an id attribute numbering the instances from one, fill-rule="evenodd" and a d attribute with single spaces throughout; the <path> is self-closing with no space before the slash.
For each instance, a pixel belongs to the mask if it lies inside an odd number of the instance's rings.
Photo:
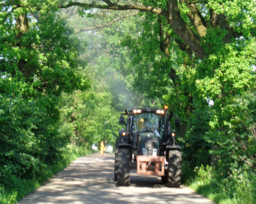
<path id="1" fill-rule="evenodd" d="M 129 186 L 129 162 L 130 162 L 130 150 L 127 148 L 118 149 L 117 165 L 116 165 L 118 187 Z"/>

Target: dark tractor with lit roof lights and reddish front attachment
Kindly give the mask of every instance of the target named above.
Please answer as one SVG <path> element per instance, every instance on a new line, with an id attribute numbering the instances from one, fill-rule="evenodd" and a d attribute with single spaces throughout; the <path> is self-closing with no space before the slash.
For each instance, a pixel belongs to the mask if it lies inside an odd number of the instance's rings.
<path id="1" fill-rule="evenodd" d="M 114 169 L 118 186 L 129 186 L 129 171 L 135 169 L 138 175 L 161 176 L 168 187 L 180 187 L 181 146 L 176 144 L 176 130 L 170 126 L 174 116 L 179 127 L 179 119 L 167 109 L 130 109 L 121 114 L 119 125 L 125 128 L 116 138 Z"/>

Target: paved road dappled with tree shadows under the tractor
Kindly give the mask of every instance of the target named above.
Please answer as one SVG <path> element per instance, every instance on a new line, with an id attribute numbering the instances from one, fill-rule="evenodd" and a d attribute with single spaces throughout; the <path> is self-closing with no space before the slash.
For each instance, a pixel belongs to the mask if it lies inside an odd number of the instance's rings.
<path id="1" fill-rule="evenodd" d="M 113 181 L 114 154 L 80 157 L 61 173 L 19 203 L 203 203 L 211 200 L 187 187 L 168 188 L 159 176 L 137 176 L 131 171 L 130 187 Z"/>

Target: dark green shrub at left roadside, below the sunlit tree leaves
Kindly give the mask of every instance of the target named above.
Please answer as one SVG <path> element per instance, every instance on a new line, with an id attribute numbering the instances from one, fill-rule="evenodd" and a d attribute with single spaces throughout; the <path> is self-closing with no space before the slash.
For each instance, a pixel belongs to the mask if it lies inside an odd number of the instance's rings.
<path id="1" fill-rule="evenodd" d="M 49 98 L 0 100 L 0 180 L 34 178 L 66 151 L 69 135 L 58 132 L 58 110 Z M 53 99 L 53 98 L 51 98 Z M 48 106 L 53 106 L 51 114 Z"/>

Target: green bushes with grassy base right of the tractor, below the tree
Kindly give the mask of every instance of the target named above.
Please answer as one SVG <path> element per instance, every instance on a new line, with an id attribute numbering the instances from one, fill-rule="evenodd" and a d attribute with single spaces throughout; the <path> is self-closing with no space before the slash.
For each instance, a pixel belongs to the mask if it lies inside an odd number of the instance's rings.
<path id="1" fill-rule="evenodd" d="M 224 111 L 233 116 L 219 129 L 208 125 L 214 120 L 209 110 L 196 110 L 189 119 L 189 130 L 181 139 L 182 180 L 217 203 L 252 204 L 256 200 L 255 93 L 233 97 Z M 216 165 L 209 166 L 210 153 L 217 157 Z"/>

